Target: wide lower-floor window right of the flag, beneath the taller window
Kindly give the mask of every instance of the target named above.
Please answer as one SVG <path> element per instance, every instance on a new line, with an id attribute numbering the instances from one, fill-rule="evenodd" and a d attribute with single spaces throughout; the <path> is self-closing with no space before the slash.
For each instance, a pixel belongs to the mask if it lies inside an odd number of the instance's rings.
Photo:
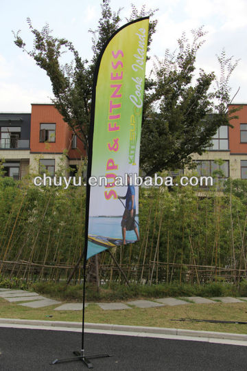
<path id="1" fill-rule="evenodd" d="M 229 161 L 224 161 L 222 165 L 216 164 L 213 160 L 196 161 L 196 163 L 200 177 L 216 177 L 217 189 L 224 188 L 224 181 L 229 177 Z"/>

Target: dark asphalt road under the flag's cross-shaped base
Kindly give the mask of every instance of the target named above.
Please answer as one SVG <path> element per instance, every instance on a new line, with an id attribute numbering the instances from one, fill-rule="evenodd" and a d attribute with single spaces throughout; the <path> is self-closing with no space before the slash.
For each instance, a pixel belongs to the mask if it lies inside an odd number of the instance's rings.
<path id="1" fill-rule="evenodd" d="M 23 328 L 0 328 L 1 371 L 87 370 L 81 361 L 50 365 L 56 358 L 73 357 L 80 333 Z M 85 334 L 91 353 L 113 357 L 92 360 L 100 371 L 247 370 L 247 347 L 200 341 Z"/>

